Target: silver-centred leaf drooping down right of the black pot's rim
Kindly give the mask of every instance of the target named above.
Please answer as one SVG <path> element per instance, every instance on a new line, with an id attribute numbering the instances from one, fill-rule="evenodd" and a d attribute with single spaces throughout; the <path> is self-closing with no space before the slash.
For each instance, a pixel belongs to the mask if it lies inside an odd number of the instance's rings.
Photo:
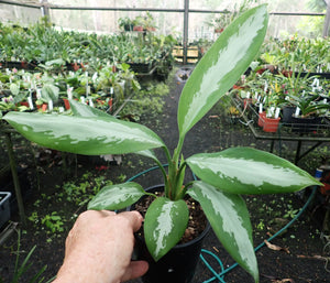
<path id="1" fill-rule="evenodd" d="M 258 281 L 249 211 L 241 196 L 228 194 L 202 182 L 187 192 L 202 207 L 215 233 L 230 255 Z"/>

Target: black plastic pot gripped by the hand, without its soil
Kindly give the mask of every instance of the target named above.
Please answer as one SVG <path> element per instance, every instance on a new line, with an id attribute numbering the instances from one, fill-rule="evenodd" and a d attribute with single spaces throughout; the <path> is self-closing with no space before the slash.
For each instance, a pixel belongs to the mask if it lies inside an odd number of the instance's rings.
<path id="1" fill-rule="evenodd" d="M 153 186 L 147 192 L 163 192 L 164 185 Z M 130 210 L 134 209 L 134 205 Z M 194 240 L 175 246 L 161 260 L 155 262 L 150 254 L 144 239 L 135 235 L 134 260 L 148 262 L 148 271 L 142 276 L 144 283 L 189 283 L 199 260 L 201 244 L 210 230 L 209 222 L 201 235 Z"/>

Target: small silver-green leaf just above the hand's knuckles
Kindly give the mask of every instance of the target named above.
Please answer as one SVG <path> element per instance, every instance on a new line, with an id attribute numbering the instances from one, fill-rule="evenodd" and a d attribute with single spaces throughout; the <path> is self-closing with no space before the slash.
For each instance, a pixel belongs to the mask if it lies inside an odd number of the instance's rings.
<path id="1" fill-rule="evenodd" d="M 117 210 L 136 203 L 145 191 L 134 182 L 105 186 L 89 203 L 87 208 L 92 210 Z"/>

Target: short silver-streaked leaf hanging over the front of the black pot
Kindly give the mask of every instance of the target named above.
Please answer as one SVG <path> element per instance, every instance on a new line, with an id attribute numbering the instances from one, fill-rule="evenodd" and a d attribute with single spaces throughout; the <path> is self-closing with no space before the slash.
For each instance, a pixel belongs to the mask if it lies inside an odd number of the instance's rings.
<path id="1" fill-rule="evenodd" d="M 183 237 L 189 219 L 186 203 L 156 198 L 148 207 L 144 220 L 146 247 L 155 261 L 165 255 Z"/>

